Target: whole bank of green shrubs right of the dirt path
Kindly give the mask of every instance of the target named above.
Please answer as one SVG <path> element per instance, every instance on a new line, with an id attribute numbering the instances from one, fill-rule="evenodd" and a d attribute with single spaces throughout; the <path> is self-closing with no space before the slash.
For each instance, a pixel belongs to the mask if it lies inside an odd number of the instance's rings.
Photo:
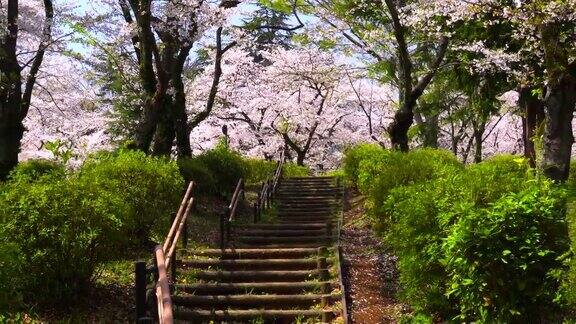
<path id="1" fill-rule="evenodd" d="M 416 312 L 522 322 L 558 310 L 565 194 L 525 159 L 464 168 L 444 151 L 356 147 L 344 171 L 357 177 L 375 228 L 397 255 L 401 296 Z"/>

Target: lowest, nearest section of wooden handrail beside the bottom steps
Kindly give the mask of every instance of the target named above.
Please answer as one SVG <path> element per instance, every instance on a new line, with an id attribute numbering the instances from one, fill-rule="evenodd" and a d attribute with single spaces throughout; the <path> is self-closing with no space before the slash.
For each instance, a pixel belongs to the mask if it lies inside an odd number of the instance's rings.
<path id="1" fill-rule="evenodd" d="M 170 285 L 166 271 L 166 259 L 164 249 L 158 245 L 154 251 L 156 266 L 158 267 L 158 282 L 156 283 L 156 300 L 158 301 L 158 322 L 160 324 L 174 323 L 172 315 L 172 298 L 170 297 Z"/>

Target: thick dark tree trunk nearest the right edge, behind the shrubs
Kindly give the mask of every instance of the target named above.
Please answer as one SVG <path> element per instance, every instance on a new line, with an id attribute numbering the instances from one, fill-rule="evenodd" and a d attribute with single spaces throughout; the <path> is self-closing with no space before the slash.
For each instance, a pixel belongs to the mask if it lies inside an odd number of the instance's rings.
<path id="1" fill-rule="evenodd" d="M 568 179 L 574 136 L 572 118 L 576 105 L 576 76 L 563 73 L 558 82 L 548 86 L 544 99 L 546 119 L 542 170 L 558 182 Z"/>

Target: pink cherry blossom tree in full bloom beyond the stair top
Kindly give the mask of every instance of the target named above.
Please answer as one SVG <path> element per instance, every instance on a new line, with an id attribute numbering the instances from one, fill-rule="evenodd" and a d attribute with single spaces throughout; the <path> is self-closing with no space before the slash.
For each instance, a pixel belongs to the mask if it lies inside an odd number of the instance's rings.
<path id="1" fill-rule="evenodd" d="M 266 64 L 236 50 L 224 66 L 211 125 L 229 126 L 234 146 L 271 157 L 282 145 L 298 164 L 326 168 L 346 144 L 380 140 L 382 107 L 390 107 L 392 99 L 343 60 L 315 48 L 276 48 L 262 56 Z M 191 102 L 202 106 L 205 94 L 194 94 Z"/>

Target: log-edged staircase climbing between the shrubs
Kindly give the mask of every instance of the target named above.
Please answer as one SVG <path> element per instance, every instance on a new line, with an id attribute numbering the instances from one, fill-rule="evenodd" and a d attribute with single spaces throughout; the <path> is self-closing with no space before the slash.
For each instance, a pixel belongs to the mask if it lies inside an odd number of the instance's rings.
<path id="1" fill-rule="evenodd" d="M 274 219 L 233 226 L 225 250 L 182 251 L 176 322 L 344 323 L 341 194 L 333 178 L 285 179 Z"/>

